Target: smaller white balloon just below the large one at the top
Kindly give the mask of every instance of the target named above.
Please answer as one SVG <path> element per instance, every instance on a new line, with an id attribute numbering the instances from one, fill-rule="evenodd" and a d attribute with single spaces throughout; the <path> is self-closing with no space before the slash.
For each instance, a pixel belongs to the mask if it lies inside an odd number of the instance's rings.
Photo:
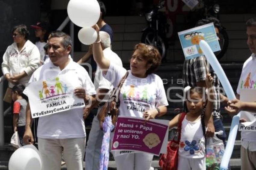
<path id="1" fill-rule="evenodd" d="M 81 43 L 90 45 L 94 43 L 97 39 L 97 32 L 92 27 L 82 28 L 78 32 L 78 39 Z"/>

